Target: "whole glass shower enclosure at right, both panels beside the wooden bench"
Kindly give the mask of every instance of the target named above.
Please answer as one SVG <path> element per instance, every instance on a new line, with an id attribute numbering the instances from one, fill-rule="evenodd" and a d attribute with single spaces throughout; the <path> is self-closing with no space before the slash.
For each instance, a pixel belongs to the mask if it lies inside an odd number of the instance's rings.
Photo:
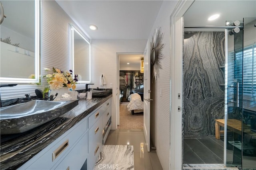
<path id="1" fill-rule="evenodd" d="M 256 18 L 232 25 L 225 35 L 224 161 L 256 169 Z"/>

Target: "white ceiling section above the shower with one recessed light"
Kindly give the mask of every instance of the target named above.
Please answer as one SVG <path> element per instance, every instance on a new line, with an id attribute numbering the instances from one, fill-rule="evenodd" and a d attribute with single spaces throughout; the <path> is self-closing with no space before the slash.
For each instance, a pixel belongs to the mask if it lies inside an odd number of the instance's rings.
<path id="1" fill-rule="evenodd" d="M 213 21 L 213 14 L 220 17 Z M 226 21 L 256 17 L 255 0 L 196 0 L 184 15 L 184 26 L 225 26 Z M 224 29 L 184 29 L 184 31 L 224 31 Z"/>

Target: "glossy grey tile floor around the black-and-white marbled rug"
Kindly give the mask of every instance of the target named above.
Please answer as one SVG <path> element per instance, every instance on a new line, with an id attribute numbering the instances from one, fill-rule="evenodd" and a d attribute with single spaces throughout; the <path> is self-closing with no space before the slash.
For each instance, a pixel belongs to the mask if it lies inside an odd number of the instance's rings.
<path id="1" fill-rule="evenodd" d="M 143 150 L 141 143 L 144 144 Z M 147 152 L 143 129 L 111 130 L 104 145 L 133 145 L 134 170 L 162 170 L 156 150 Z"/>

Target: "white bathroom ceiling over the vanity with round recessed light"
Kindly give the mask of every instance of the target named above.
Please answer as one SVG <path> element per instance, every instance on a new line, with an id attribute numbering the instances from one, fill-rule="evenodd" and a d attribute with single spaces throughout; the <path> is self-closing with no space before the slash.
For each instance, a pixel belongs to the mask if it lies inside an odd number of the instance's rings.
<path id="1" fill-rule="evenodd" d="M 90 39 L 147 39 L 162 0 L 56 0 Z M 92 31 L 93 24 L 98 30 Z"/>

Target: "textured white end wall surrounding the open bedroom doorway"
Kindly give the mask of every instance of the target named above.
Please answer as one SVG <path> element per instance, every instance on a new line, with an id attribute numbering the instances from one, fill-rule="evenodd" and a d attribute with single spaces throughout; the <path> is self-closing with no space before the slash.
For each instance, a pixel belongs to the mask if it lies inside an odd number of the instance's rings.
<path id="1" fill-rule="evenodd" d="M 92 40 L 92 88 L 111 88 L 113 84 L 112 98 L 112 129 L 116 129 L 116 93 L 119 89 L 116 84 L 117 75 L 117 53 L 143 53 L 146 46 L 146 39 L 113 39 L 113 40 Z M 104 74 L 106 85 L 100 86 L 100 76 Z M 118 78 L 119 80 L 119 78 Z M 117 89 L 118 88 L 118 89 Z"/>

